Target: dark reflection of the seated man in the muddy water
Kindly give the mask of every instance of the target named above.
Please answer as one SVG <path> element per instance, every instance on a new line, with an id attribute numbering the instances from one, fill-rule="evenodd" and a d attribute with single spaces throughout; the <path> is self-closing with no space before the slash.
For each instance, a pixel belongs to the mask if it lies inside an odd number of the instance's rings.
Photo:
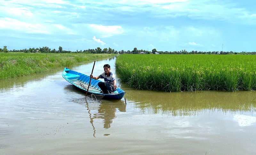
<path id="1" fill-rule="evenodd" d="M 104 128 L 110 128 L 110 124 L 116 117 L 116 108 L 118 108 L 120 112 L 125 112 L 125 105 L 123 103 L 102 103 L 99 106 L 98 114 L 94 114 L 98 116 L 94 116 L 94 118 L 104 119 Z"/>

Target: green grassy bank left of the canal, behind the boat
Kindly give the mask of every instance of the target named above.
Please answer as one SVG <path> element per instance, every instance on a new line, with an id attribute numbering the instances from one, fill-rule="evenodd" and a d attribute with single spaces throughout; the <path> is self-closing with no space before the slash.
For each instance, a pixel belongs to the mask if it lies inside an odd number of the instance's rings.
<path id="1" fill-rule="evenodd" d="M 70 67 L 111 56 L 114 54 L 0 53 L 0 79 L 41 73 L 57 67 Z"/>

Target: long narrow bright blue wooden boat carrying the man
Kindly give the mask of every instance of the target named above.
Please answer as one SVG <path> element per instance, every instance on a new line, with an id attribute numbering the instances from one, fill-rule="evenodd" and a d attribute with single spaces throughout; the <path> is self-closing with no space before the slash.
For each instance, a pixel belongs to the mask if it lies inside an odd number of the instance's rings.
<path id="1" fill-rule="evenodd" d="M 64 68 L 62 72 L 62 77 L 67 80 L 69 83 L 73 84 L 77 88 L 87 91 L 90 76 L 73 71 L 68 69 L 67 67 Z M 110 94 L 102 94 L 100 93 L 101 89 L 98 86 L 98 83 L 101 82 L 100 80 L 91 79 L 90 87 L 88 90 L 88 94 L 95 94 L 95 95 L 104 95 L 103 99 L 110 99 L 110 100 L 120 100 L 124 97 L 125 91 L 122 89 L 117 88 L 114 93 Z"/>

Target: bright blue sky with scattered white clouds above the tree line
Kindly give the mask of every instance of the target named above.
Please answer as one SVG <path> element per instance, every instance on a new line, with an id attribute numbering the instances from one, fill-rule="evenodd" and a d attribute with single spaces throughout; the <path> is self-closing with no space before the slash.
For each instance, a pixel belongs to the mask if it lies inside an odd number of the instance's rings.
<path id="1" fill-rule="evenodd" d="M 254 6 L 255 0 L 0 0 L 0 48 L 251 52 Z"/>

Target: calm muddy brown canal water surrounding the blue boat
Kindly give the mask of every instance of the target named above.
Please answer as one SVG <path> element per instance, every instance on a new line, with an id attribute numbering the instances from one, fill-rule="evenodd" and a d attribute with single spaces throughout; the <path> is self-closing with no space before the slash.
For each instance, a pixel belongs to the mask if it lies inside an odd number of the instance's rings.
<path id="1" fill-rule="evenodd" d="M 115 58 L 96 62 L 93 75 Z M 89 75 L 93 63 L 70 69 Z M 254 91 L 155 92 L 118 101 L 85 94 L 63 69 L 0 81 L 0 154 L 255 154 Z"/>

